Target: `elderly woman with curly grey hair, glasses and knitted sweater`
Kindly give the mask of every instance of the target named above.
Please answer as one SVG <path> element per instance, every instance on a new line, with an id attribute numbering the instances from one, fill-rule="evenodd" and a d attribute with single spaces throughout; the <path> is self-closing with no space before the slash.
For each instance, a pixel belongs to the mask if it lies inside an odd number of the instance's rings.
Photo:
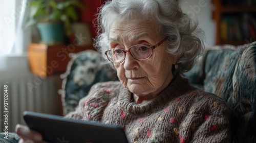
<path id="1" fill-rule="evenodd" d="M 120 81 L 94 85 L 66 117 L 119 125 L 130 142 L 230 141 L 225 102 L 182 77 L 204 36 L 176 1 L 106 2 L 98 29 L 96 47 Z M 20 142 L 41 139 L 27 127 L 16 129 Z"/>

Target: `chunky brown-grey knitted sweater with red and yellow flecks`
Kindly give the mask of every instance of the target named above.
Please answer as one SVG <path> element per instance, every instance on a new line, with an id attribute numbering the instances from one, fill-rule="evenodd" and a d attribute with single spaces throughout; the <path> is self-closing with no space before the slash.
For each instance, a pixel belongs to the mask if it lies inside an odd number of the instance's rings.
<path id="1" fill-rule="evenodd" d="M 66 117 L 123 127 L 129 142 L 229 142 L 225 102 L 178 76 L 156 98 L 131 101 L 120 82 L 95 84 Z"/>

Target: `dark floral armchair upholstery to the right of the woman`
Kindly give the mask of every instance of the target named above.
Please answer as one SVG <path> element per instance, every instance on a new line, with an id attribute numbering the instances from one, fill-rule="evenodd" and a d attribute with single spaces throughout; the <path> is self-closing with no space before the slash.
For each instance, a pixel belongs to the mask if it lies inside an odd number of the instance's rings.
<path id="1" fill-rule="evenodd" d="M 185 77 L 227 102 L 233 142 L 256 142 L 256 42 L 211 47 Z"/>

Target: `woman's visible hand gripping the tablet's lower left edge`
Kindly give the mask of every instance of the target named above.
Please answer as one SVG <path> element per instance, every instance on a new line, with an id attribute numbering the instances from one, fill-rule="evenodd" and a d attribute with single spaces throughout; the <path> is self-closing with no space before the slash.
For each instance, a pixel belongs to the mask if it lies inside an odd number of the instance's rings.
<path id="1" fill-rule="evenodd" d="M 35 141 L 42 141 L 42 135 L 36 131 L 30 130 L 27 126 L 17 124 L 15 131 L 18 135 L 22 136 L 24 139 L 32 139 Z M 24 140 L 23 139 L 23 140 Z"/>

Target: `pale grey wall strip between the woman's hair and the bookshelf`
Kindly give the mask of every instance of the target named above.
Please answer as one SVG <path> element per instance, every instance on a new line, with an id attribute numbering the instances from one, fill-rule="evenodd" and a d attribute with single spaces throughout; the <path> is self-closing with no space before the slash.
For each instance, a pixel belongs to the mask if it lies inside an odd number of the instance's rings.
<path id="1" fill-rule="evenodd" d="M 180 0 L 184 13 L 195 17 L 199 21 L 199 27 L 205 32 L 205 47 L 215 45 L 216 23 L 211 18 L 210 0 Z"/>

